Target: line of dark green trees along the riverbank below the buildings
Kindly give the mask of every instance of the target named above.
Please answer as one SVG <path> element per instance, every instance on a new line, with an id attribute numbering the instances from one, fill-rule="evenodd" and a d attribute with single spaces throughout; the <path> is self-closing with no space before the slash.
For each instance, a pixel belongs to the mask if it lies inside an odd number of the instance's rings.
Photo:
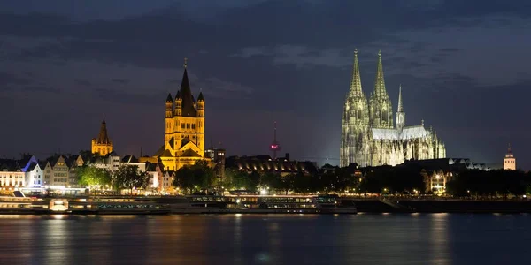
<path id="1" fill-rule="evenodd" d="M 122 165 L 119 170 L 78 168 L 81 186 L 92 190 L 112 188 L 146 190 L 150 174 L 137 166 Z M 199 161 L 175 172 L 173 186 L 181 193 L 202 193 L 211 186 L 227 190 L 246 190 L 250 193 L 389 193 L 419 194 L 427 191 L 427 176 L 417 165 L 381 166 L 355 170 L 326 165 L 321 170 L 281 174 L 271 171 L 225 170 L 225 178 L 216 178 L 208 163 Z M 429 193 L 429 192 L 428 192 Z M 506 196 L 531 193 L 531 173 L 521 170 L 464 170 L 456 172 L 446 183 L 446 194 L 452 196 Z"/>

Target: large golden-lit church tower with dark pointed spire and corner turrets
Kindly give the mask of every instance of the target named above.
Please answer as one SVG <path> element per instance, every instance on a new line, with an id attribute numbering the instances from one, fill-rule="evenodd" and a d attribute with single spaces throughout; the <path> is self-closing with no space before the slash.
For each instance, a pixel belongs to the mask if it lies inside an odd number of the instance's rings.
<path id="1" fill-rule="evenodd" d="M 204 157 L 204 96 L 200 92 L 197 101 L 192 95 L 185 59 L 181 88 L 173 99 L 169 94 L 165 101 L 164 146 L 155 154 L 163 163 L 164 170 L 179 170 Z"/>

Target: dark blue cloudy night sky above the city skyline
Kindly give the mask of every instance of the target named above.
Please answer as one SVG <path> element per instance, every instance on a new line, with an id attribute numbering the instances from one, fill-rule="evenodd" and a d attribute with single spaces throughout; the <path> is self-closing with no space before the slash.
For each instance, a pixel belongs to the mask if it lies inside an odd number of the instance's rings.
<path id="1" fill-rule="evenodd" d="M 217 4 L 212 5 L 213 2 Z M 400 4 L 399 4 L 400 3 Z M 188 57 L 206 140 L 227 155 L 339 162 L 357 48 L 364 93 L 381 49 L 406 125 L 433 125 L 450 157 L 531 169 L 527 0 L 3 1 L 0 156 L 90 148 L 105 117 L 119 155 L 153 154 Z"/>

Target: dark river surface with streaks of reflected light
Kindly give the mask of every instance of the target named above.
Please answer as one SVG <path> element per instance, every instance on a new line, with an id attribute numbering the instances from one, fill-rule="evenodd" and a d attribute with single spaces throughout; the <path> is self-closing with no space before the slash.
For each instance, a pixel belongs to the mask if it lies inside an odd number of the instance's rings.
<path id="1" fill-rule="evenodd" d="M 0 216 L 0 264 L 529 264 L 529 215 Z"/>

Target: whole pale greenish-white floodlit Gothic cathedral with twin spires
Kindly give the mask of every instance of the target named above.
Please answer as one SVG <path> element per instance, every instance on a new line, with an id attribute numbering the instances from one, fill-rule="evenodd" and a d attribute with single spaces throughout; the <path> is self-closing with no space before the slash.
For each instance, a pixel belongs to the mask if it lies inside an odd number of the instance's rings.
<path id="1" fill-rule="evenodd" d="M 398 92 L 396 124 L 393 107 L 385 88 L 381 52 L 374 80 L 374 91 L 367 101 L 361 86 L 358 51 L 354 51 L 354 65 L 350 91 L 342 113 L 340 165 L 358 163 L 361 167 L 396 165 L 409 159 L 444 158 L 446 149 L 433 129 L 420 125 L 405 126 L 402 87 Z"/>

